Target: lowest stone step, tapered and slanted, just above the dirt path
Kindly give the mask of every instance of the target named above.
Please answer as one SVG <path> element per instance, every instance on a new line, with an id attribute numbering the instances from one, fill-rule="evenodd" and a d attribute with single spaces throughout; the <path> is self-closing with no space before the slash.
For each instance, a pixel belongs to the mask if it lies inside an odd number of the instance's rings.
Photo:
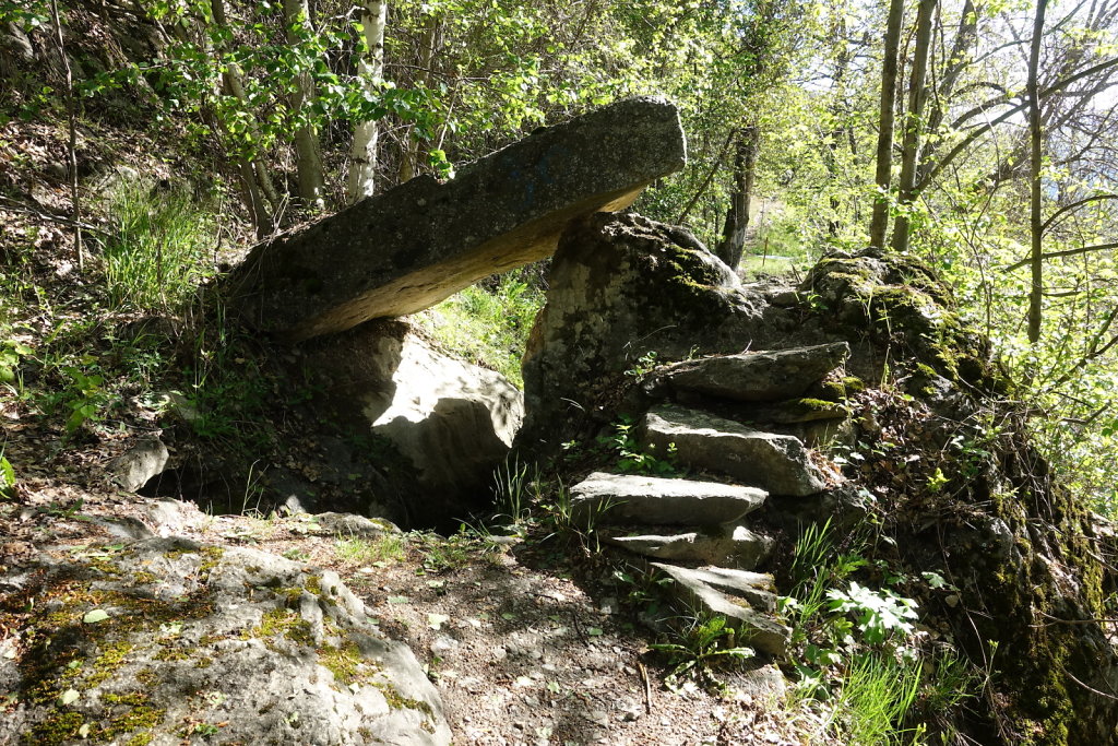
<path id="1" fill-rule="evenodd" d="M 792 630 L 774 618 L 776 586 L 771 575 L 724 567 L 689 569 L 664 563 L 652 563 L 652 567 L 674 580 L 671 589 L 680 601 L 724 616 L 738 631 L 738 643 L 785 658 Z"/>

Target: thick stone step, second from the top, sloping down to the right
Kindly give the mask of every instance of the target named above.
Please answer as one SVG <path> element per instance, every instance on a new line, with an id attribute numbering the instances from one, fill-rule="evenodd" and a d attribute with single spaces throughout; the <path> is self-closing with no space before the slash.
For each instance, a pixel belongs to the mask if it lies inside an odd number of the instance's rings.
<path id="1" fill-rule="evenodd" d="M 752 429 L 704 412 L 656 407 L 645 414 L 636 437 L 657 454 L 667 453 L 674 444 L 680 463 L 727 474 L 773 494 L 804 497 L 826 487 L 799 438 Z"/>

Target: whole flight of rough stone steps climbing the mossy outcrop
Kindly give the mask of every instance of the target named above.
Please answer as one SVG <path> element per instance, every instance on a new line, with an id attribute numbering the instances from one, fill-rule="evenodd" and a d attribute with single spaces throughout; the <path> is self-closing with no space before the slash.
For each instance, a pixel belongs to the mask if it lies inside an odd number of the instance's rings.
<path id="1" fill-rule="evenodd" d="M 647 573 L 672 578 L 682 603 L 724 616 L 741 643 L 784 658 L 792 631 L 776 616 L 773 576 L 756 572 L 773 541 L 751 530 L 748 517 L 770 498 L 827 489 L 804 440 L 846 418 L 845 407 L 824 396 L 825 381 L 849 356 L 837 342 L 709 357 L 655 372 L 644 387 L 661 403 L 644 415 L 636 438 L 657 454 L 673 445 L 675 462 L 704 476 L 596 472 L 571 490 L 576 517 L 636 527 L 608 541 L 646 558 Z M 789 434 L 795 426 L 800 436 Z"/>

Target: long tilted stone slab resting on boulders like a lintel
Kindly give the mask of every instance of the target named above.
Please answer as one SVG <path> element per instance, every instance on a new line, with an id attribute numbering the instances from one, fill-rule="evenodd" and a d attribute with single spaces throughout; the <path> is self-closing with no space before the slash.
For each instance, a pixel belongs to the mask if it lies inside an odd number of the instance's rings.
<path id="1" fill-rule="evenodd" d="M 674 105 L 622 101 L 445 183 L 419 177 L 262 244 L 235 271 L 233 294 L 250 323 L 295 340 L 413 313 L 550 256 L 572 219 L 627 207 L 685 162 Z"/>

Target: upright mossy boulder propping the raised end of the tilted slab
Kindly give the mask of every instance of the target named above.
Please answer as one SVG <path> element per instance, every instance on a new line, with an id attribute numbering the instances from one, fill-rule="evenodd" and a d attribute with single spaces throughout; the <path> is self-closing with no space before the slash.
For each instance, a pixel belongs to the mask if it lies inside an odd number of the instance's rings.
<path id="1" fill-rule="evenodd" d="M 738 352 L 759 327 L 759 296 L 684 228 L 637 215 L 572 224 L 548 275 L 524 353 L 518 448 L 548 453 L 614 416 L 618 385 L 650 351 Z"/>

